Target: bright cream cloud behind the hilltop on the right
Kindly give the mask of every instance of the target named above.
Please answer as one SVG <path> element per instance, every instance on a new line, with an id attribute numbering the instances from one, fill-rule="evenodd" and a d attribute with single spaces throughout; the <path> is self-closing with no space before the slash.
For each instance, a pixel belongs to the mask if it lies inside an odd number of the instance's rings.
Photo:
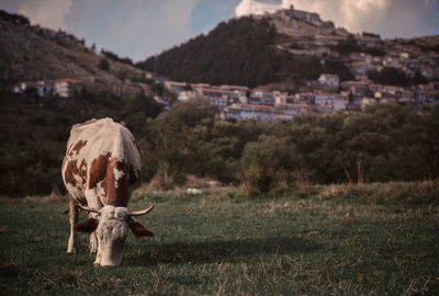
<path id="1" fill-rule="evenodd" d="M 250 7 L 250 0 L 243 0 L 237 7 Z M 437 0 L 283 0 L 278 5 L 313 11 L 324 20 L 334 21 L 337 26 L 353 33 L 362 31 L 380 33 L 384 37 L 412 37 L 437 34 L 439 13 Z M 251 4 L 254 5 L 254 4 Z M 238 11 L 237 11 L 238 12 Z M 239 15 L 237 13 L 237 15 Z"/>

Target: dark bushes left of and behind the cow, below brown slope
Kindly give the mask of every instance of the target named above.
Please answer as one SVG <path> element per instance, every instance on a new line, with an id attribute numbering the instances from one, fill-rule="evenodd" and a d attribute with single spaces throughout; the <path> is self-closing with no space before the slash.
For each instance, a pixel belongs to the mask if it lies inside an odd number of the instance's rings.
<path id="1" fill-rule="evenodd" d="M 161 112 L 151 98 L 88 92 L 69 99 L 3 92 L 0 105 L 0 194 L 14 196 L 65 191 L 60 166 L 74 124 L 109 116 L 142 134 L 146 118 Z"/>

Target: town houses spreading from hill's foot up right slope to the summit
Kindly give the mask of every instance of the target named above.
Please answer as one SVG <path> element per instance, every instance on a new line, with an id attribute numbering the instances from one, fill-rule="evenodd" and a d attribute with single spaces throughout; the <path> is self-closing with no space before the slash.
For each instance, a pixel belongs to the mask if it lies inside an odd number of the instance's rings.
<path id="1" fill-rule="evenodd" d="M 278 50 L 295 57 L 316 58 L 320 65 L 340 60 L 352 79 L 341 80 L 336 73 L 322 73 L 317 80 L 306 81 L 299 91 L 288 92 L 176 81 L 166 81 L 165 86 L 180 101 L 206 98 L 226 121 L 291 121 L 300 114 L 362 111 L 378 103 L 420 107 L 439 101 L 437 50 L 423 48 L 413 41 L 383 41 L 373 33 L 352 35 L 345 29 L 335 29 L 331 22 L 322 21 L 318 14 L 294 7 L 273 12 L 271 19 L 279 32 L 295 36 L 293 42 L 278 44 Z M 312 37 L 311 31 L 315 31 Z M 373 73 L 383 70 L 401 73 L 410 82 L 382 84 L 371 79 Z"/>

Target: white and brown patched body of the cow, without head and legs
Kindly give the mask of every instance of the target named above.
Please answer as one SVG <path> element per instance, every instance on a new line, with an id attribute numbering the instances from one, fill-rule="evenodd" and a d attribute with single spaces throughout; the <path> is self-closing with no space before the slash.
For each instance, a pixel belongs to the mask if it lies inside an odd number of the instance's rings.
<path id="1" fill-rule="evenodd" d="M 137 181 L 140 153 L 131 132 L 111 118 L 77 124 L 70 132 L 63 180 L 70 195 L 87 203 L 126 204 L 128 185 Z"/>

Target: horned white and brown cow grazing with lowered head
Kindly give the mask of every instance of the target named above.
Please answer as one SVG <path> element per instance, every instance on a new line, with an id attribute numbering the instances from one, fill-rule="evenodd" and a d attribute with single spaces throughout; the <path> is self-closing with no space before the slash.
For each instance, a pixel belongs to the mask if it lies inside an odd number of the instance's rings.
<path id="1" fill-rule="evenodd" d="M 90 253 L 97 252 L 94 265 L 117 266 L 128 227 L 136 237 L 154 236 L 134 218 L 154 205 L 140 212 L 127 208 L 128 186 L 139 172 L 140 153 L 127 128 L 111 118 L 72 127 L 63 162 L 63 180 L 71 196 L 68 253 L 76 253 L 75 231 L 89 232 Z M 77 224 L 79 208 L 90 218 Z"/>

